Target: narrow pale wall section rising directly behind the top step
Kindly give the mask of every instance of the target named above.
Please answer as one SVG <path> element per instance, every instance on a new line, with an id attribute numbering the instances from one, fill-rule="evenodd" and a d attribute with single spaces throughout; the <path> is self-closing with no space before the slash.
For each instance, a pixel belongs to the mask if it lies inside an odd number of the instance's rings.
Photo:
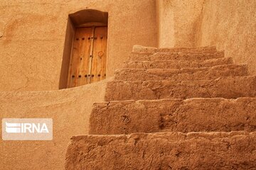
<path id="1" fill-rule="evenodd" d="M 203 0 L 156 0 L 159 47 L 194 47 Z"/>

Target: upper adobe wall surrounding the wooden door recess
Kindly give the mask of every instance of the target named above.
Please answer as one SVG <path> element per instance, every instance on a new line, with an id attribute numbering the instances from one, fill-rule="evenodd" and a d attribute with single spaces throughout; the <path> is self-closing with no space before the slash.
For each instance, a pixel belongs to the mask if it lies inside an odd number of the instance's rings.
<path id="1" fill-rule="evenodd" d="M 0 91 L 58 89 L 68 14 L 85 8 L 109 13 L 107 77 L 132 45 L 157 45 L 154 0 L 2 0 Z"/>

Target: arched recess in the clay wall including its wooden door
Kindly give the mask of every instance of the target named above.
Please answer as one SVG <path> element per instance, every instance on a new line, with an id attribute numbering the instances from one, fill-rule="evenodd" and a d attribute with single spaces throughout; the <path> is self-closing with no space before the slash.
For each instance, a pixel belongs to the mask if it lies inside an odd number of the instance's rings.
<path id="1" fill-rule="evenodd" d="M 108 13 L 85 9 L 68 16 L 59 89 L 106 78 Z"/>

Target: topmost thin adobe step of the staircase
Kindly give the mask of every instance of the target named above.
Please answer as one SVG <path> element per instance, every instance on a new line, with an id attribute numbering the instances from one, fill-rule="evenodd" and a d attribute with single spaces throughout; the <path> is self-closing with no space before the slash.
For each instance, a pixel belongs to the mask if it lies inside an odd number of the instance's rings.
<path id="1" fill-rule="evenodd" d="M 137 53 L 156 53 L 156 52 L 217 52 L 215 46 L 206 47 L 171 47 L 171 48 L 156 48 L 156 47 L 144 47 L 142 45 L 134 45 L 132 52 Z"/>

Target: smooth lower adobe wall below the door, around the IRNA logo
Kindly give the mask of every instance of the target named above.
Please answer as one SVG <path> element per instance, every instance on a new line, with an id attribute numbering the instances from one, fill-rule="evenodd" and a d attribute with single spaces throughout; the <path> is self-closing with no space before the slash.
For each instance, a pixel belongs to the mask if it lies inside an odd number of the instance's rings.
<path id="1" fill-rule="evenodd" d="M 0 92 L 0 120 L 53 119 L 53 140 L 3 141 L 0 138 L 0 169 L 64 169 L 70 137 L 88 134 L 92 104 L 104 100 L 106 82 L 59 91 Z"/>

